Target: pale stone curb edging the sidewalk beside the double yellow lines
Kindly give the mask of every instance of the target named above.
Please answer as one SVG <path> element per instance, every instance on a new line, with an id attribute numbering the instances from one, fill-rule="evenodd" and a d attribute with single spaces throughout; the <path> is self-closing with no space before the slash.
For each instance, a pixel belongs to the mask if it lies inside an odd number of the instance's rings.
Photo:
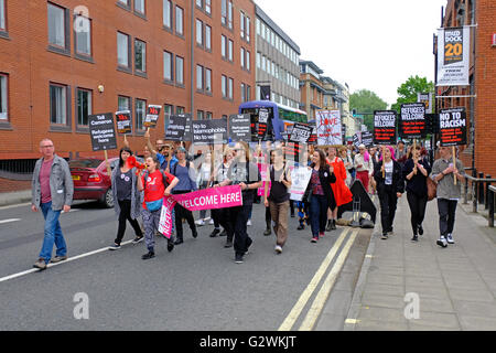
<path id="1" fill-rule="evenodd" d="M 379 208 L 377 208 L 380 212 Z M 365 284 L 367 280 L 368 269 L 370 268 L 370 263 L 373 258 L 374 250 L 376 248 L 376 234 L 379 234 L 380 215 L 376 218 L 376 224 L 374 225 L 373 234 L 370 235 L 370 242 L 368 243 L 367 252 L 365 253 L 364 263 L 362 264 L 360 274 L 355 286 L 355 291 L 352 298 L 352 304 L 349 306 L 348 313 L 344 322 L 344 331 L 355 331 L 357 324 L 358 313 L 362 307 L 362 297 L 365 291 Z"/>

